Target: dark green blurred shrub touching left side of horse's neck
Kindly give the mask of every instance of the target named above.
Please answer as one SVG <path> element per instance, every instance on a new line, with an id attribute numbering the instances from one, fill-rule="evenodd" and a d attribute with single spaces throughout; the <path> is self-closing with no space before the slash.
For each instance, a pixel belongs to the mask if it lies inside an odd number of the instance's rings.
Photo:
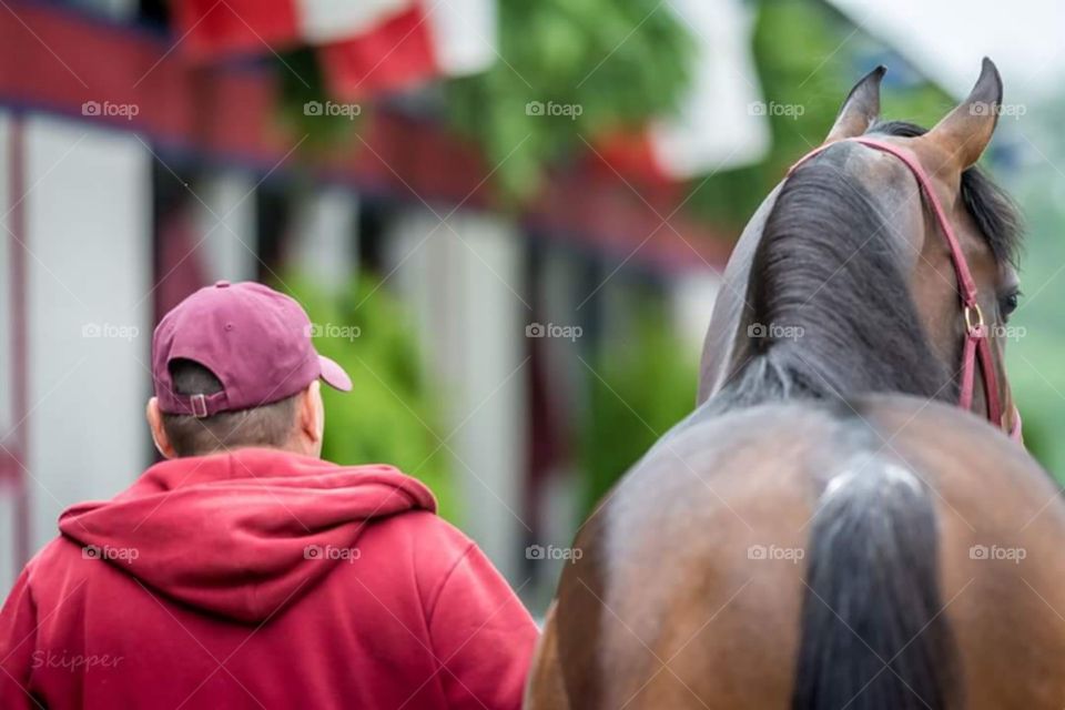
<path id="1" fill-rule="evenodd" d="M 698 362 L 665 314 L 646 310 L 628 337 L 601 346 L 591 363 L 579 440 L 584 519 L 607 490 L 696 402 Z M 597 376 L 598 375 L 598 376 Z"/>

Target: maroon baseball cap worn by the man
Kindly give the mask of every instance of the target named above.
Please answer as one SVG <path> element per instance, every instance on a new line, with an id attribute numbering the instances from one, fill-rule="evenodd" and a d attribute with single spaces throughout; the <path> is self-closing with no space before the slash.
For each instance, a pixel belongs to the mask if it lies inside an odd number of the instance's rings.
<path id="1" fill-rule="evenodd" d="M 220 281 L 168 313 L 152 336 L 152 381 L 159 408 L 206 417 L 291 397 L 321 377 L 347 392 L 352 381 L 311 343 L 311 321 L 298 303 L 253 282 Z M 174 392 L 170 365 L 191 359 L 222 383 L 214 394 Z"/>

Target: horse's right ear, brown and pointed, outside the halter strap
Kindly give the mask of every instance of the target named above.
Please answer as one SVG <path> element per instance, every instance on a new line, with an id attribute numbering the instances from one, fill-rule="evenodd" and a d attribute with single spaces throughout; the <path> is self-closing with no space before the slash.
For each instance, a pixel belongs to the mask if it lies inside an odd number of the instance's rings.
<path id="1" fill-rule="evenodd" d="M 940 168 L 962 172 L 980 159 L 991 142 L 1000 105 L 1002 78 L 995 63 L 985 57 L 980 79 L 968 98 L 917 141 L 935 149 L 942 161 Z"/>

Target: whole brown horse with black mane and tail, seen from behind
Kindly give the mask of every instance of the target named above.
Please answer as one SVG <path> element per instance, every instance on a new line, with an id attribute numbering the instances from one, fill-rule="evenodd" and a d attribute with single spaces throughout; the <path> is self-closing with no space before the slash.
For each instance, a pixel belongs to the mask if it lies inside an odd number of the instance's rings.
<path id="1" fill-rule="evenodd" d="M 994 424 L 1013 428 L 1016 219 L 973 168 L 1002 84 L 985 60 L 925 132 L 879 121 L 882 74 L 744 231 L 700 406 L 578 532 L 527 708 L 1065 706 L 1065 506 L 1022 447 L 955 405 L 978 332 L 991 361 L 972 408 L 990 410 L 991 383 Z M 986 332 L 960 312 L 946 230 Z"/>

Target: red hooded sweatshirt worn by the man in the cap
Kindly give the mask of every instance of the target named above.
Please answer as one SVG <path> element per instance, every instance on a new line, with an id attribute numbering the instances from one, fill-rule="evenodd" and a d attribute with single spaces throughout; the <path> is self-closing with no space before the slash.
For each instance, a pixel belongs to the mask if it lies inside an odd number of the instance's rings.
<path id="1" fill-rule="evenodd" d="M 0 708 L 517 709 L 536 627 L 428 489 L 267 449 L 77 505 L 0 611 Z"/>

